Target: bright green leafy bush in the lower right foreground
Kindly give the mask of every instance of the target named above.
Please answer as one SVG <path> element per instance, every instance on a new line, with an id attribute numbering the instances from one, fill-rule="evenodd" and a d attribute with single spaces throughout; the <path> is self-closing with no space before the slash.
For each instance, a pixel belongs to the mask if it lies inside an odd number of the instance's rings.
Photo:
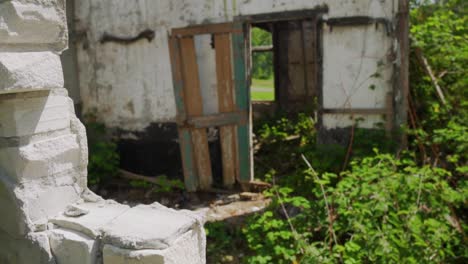
<path id="1" fill-rule="evenodd" d="M 379 153 L 351 166 L 340 175 L 304 170 L 298 176 L 306 179 L 309 192 L 269 190 L 270 210 L 244 228 L 254 252 L 246 262 L 468 260 L 468 226 L 455 213 L 466 209 L 468 189 L 451 186 L 450 172 Z"/>

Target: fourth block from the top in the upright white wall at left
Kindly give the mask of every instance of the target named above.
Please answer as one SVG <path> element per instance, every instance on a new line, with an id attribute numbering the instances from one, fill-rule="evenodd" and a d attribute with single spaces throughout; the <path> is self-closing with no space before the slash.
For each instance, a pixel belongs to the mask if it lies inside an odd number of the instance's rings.
<path id="1" fill-rule="evenodd" d="M 17 182 L 73 171 L 81 164 L 76 135 L 0 149 L 0 167 Z"/>

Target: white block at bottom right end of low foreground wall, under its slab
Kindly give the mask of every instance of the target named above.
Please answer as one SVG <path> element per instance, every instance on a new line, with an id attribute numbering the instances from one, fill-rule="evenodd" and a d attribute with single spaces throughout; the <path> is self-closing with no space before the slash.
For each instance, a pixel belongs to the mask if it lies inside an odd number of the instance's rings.
<path id="1" fill-rule="evenodd" d="M 199 234 L 189 230 L 164 250 L 129 250 L 105 245 L 104 264 L 204 264 L 204 248 L 199 246 Z"/>

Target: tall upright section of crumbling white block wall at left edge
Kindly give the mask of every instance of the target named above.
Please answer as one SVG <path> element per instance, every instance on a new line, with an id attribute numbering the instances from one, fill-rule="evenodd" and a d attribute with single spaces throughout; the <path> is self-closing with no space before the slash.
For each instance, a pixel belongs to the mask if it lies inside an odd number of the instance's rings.
<path id="1" fill-rule="evenodd" d="M 48 217 L 86 189 L 83 125 L 63 87 L 62 0 L 0 3 L 0 262 L 52 263 Z"/>

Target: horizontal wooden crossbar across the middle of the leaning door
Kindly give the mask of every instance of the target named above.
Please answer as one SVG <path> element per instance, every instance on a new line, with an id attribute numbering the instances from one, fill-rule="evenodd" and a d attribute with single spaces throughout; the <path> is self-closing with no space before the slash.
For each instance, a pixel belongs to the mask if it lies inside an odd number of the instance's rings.
<path id="1" fill-rule="evenodd" d="M 188 118 L 187 125 L 194 128 L 208 128 L 227 125 L 245 125 L 247 122 L 247 112 L 230 112 L 191 117 Z"/>

